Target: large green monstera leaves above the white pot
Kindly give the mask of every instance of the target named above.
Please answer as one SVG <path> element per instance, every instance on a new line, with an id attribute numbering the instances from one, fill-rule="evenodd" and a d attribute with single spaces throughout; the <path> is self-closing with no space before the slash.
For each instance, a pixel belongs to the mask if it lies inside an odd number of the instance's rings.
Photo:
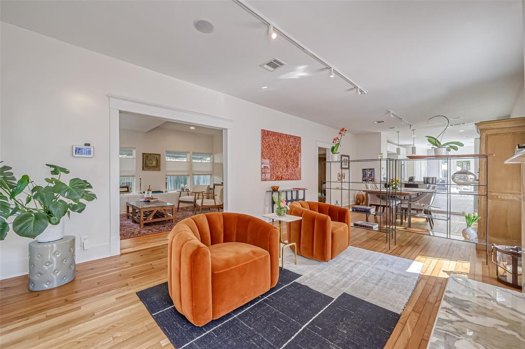
<path id="1" fill-rule="evenodd" d="M 10 171 L 12 167 L 0 167 L 0 240 L 5 239 L 10 228 L 20 236 L 35 238 L 48 225 L 58 225 L 65 215 L 69 217 L 71 211 L 81 213 L 86 208 L 82 201 L 97 199 L 89 190 L 92 187 L 88 181 L 72 178 L 63 182 L 60 177 L 69 173 L 68 169 L 47 163 L 46 166 L 52 176 L 44 178 L 45 187 L 37 186 L 27 174 L 17 180 Z M 13 222 L 8 223 L 12 216 Z"/>

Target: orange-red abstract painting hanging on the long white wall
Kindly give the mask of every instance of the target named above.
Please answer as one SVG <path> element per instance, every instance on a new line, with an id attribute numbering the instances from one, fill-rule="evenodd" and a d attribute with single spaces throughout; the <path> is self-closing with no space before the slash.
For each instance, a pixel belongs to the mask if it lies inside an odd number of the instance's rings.
<path id="1" fill-rule="evenodd" d="M 261 129 L 261 181 L 301 179 L 301 137 Z"/>

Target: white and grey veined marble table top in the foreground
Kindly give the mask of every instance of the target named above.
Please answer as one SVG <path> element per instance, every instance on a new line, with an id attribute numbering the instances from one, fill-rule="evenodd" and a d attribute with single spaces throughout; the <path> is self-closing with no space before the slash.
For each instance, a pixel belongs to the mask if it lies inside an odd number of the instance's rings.
<path id="1" fill-rule="evenodd" d="M 450 275 L 428 348 L 525 348 L 525 295 Z"/>

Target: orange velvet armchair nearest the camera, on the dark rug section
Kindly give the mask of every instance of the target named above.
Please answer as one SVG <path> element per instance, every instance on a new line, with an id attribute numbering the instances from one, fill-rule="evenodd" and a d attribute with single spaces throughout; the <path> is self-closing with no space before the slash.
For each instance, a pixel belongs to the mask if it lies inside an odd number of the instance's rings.
<path id="1" fill-rule="evenodd" d="M 279 232 L 246 214 L 198 214 L 171 231 L 167 269 L 175 308 L 202 326 L 276 285 Z"/>

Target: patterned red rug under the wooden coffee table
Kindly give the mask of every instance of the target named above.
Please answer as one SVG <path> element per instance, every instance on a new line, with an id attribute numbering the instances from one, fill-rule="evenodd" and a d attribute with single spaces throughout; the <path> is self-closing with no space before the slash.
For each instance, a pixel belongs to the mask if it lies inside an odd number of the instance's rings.
<path id="1" fill-rule="evenodd" d="M 177 222 L 193 215 L 193 207 L 181 207 L 178 212 L 175 210 L 175 223 L 172 221 L 161 221 L 144 224 L 141 229 L 139 223 L 132 221 L 126 217 L 125 213 L 120 214 L 120 239 L 129 239 L 131 237 L 169 232 L 173 229 Z"/>

